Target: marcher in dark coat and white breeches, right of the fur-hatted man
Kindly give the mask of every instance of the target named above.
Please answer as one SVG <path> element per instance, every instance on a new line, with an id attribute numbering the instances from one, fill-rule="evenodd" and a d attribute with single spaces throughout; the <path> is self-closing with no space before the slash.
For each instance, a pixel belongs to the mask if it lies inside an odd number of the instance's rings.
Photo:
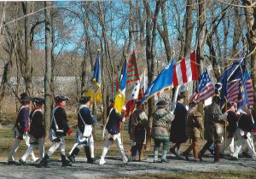
<path id="1" fill-rule="evenodd" d="M 227 134 L 226 141 L 223 141 L 223 144 L 220 149 L 220 156 L 224 157 L 224 151 L 227 147 L 230 147 L 230 154 L 234 153 L 234 138 L 236 136 L 236 128 L 237 128 L 237 119 L 238 115 L 236 113 L 236 103 L 233 101 L 229 101 L 227 103 L 227 120 L 229 125 L 227 126 Z M 226 132 L 226 131 L 225 131 Z"/>

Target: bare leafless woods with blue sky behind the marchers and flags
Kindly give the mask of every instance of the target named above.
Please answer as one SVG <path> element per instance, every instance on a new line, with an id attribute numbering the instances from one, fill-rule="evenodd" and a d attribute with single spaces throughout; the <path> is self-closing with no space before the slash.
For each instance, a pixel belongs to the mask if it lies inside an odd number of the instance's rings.
<path id="1" fill-rule="evenodd" d="M 172 57 L 179 61 L 193 50 L 199 72 L 207 67 L 214 82 L 244 56 L 255 91 L 255 19 L 255 0 L 1 2 L 0 108 L 6 95 L 44 95 L 49 123 L 54 95 L 69 95 L 73 104 L 85 95 L 98 49 L 105 117 L 108 84 L 133 49 L 140 72 L 148 69 L 148 84 Z M 60 77 L 75 83 L 55 85 Z M 153 105 L 149 100 L 149 117 Z"/>

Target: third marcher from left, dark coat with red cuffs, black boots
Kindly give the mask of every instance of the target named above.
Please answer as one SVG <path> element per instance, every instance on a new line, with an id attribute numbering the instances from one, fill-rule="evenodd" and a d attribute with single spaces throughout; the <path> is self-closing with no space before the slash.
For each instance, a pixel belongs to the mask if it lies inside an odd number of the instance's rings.
<path id="1" fill-rule="evenodd" d="M 69 129 L 67 124 L 67 114 L 64 108 L 66 106 L 66 101 L 68 101 L 67 96 L 55 96 L 55 108 L 53 109 L 49 126 L 49 140 L 52 141 L 52 145 L 49 147 L 48 153 L 44 156 L 44 159 L 41 160 L 39 166 L 47 166 L 49 157 L 55 153 L 55 150 L 57 150 L 58 147 L 60 147 L 61 150 L 62 166 L 71 166 L 65 155 L 66 143 L 64 136 L 67 136 L 67 134 L 71 135 L 72 133 L 72 130 Z"/>

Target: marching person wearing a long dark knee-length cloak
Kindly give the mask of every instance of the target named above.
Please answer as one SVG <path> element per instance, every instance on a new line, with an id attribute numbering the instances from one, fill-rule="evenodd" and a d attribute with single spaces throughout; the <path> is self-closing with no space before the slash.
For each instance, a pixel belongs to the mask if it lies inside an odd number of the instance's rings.
<path id="1" fill-rule="evenodd" d="M 180 145 L 187 141 L 188 137 L 186 136 L 186 123 L 187 123 L 187 115 L 188 111 L 186 107 L 183 105 L 184 98 L 186 96 L 181 94 L 177 95 L 177 105 L 174 111 L 175 118 L 172 121 L 171 125 L 171 134 L 170 134 L 170 141 L 175 143 L 173 147 L 170 147 L 170 152 L 180 156 Z M 177 153 L 175 151 L 177 148 Z"/>

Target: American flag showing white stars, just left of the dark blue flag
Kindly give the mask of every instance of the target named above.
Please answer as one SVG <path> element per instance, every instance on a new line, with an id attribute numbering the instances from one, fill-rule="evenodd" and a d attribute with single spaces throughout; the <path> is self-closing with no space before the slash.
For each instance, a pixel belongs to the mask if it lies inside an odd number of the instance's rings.
<path id="1" fill-rule="evenodd" d="M 209 97 L 215 94 L 215 87 L 212 84 L 212 80 L 207 72 L 207 69 L 201 76 L 199 84 L 198 101 L 206 101 Z"/>

